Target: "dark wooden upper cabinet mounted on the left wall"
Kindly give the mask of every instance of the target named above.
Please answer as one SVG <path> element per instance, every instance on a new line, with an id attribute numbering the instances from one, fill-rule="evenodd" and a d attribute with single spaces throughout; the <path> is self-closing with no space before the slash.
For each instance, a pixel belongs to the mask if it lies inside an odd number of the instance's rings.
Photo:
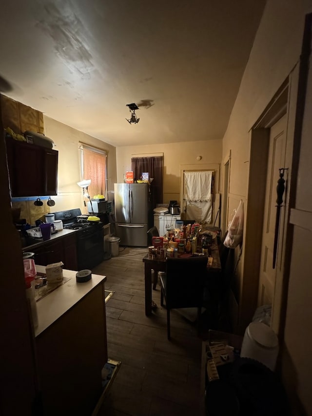
<path id="1" fill-rule="evenodd" d="M 57 195 L 57 150 L 6 138 L 11 197 Z"/>

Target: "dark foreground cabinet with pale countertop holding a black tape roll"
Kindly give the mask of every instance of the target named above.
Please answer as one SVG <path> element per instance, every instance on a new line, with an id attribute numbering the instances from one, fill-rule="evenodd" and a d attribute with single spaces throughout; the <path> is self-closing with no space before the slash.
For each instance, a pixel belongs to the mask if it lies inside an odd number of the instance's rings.
<path id="1" fill-rule="evenodd" d="M 63 272 L 70 280 L 37 302 L 39 391 L 45 416 L 90 416 L 103 392 L 101 370 L 108 359 L 106 277 L 76 283 L 76 272 Z"/>

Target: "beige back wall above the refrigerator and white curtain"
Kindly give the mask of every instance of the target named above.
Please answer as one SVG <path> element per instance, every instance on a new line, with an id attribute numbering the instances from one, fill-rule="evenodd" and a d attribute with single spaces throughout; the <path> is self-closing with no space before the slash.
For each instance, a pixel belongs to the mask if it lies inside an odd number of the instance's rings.
<path id="1" fill-rule="evenodd" d="M 131 158 L 162 155 L 164 157 L 163 202 L 180 200 L 180 165 L 194 165 L 195 169 L 206 169 L 207 164 L 221 163 L 222 140 L 188 141 L 181 143 L 155 143 L 153 145 L 124 146 L 117 148 L 117 180 L 131 170 Z M 196 157 L 201 156 L 201 160 Z"/>

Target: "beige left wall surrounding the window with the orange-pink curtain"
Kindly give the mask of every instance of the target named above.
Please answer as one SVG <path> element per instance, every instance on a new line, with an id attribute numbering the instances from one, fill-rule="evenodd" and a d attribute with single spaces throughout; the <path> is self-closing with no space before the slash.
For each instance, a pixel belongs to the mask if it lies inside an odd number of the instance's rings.
<path id="1" fill-rule="evenodd" d="M 117 180 L 116 148 L 49 117 L 44 116 L 43 121 L 45 135 L 55 142 L 55 149 L 59 151 L 58 196 L 53 198 L 56 203 L 52 209 L 62 211 L 80 207 L 82 213 L 85 213 L 82 191 L 77 185 L 82 179 L 79 141 L 107 152 L 108 189 L 113 189 Z"/>

